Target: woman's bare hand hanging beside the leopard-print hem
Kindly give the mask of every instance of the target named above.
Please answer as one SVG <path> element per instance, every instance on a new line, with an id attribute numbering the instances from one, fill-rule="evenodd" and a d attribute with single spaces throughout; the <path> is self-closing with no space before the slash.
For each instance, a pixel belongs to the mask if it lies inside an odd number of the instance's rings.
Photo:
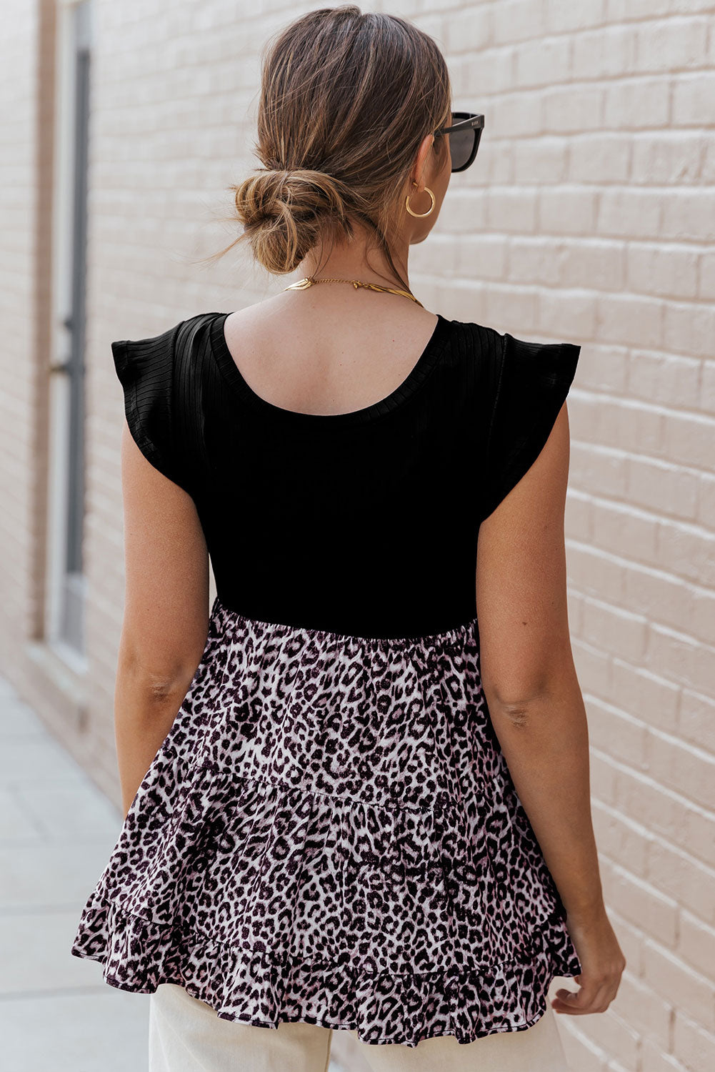
<path id="1" fill-rule="evenodd" d="M 574 977 L 579 989 L 556 991 L 551 1008 L 570 1015 L 606 1012 L 626 967 L 606 909 L 582 915 L 567 913 L 566 927 L 581 962 L 581 974 Z"/>

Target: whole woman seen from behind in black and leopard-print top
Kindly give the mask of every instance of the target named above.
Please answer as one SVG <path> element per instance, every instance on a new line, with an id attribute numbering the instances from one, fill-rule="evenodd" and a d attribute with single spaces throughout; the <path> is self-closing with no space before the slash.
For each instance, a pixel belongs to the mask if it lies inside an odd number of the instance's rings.
<path id="1" fill-rule="evenodd" d="M 553 1013 L 619 987 L 566 616 L 580 347 L 407 281 L 481 121 L 409 23 L 296 19 L 233 189 L 300 280 L 113 343 L 126 816 L 73 953 L 151 994 L 152 1072 L 324 1072 L 333 1029 L 375 1070 L 558 1072 Z"/>

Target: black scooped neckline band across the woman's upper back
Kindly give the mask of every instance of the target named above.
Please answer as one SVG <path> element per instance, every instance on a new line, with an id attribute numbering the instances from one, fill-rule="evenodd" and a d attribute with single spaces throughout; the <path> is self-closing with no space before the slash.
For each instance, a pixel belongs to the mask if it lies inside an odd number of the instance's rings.
<path id="1" fill-rule="evenodd" d="M 393 391 L 390 391 L 389 394 L 386 394 L 385 398 L 378 399 L 376 402 L 372 402 L 370 405 L 362 406 L 359 410 L 351 410 L 347 413 L 300 413 L 298 410 L 286 410 L 274 402 L 269 402 L 268 399 L 257 394 L 249 386 L 236 364 L 226 342 L 224 324 L 229 315 L 230 313 L 213 314 L 209 341 L 214 359 L 232 389 L 252 408 L 274 420 L 300 425 L 303 428 L 325 429 L 367 423 L 397 410 L 412 397 L 436 364 L 445 347 L 452 323 L 443 316 L 442 313 L 436 314 L 436 324 L 419 357 L 402 383 Z"/>

